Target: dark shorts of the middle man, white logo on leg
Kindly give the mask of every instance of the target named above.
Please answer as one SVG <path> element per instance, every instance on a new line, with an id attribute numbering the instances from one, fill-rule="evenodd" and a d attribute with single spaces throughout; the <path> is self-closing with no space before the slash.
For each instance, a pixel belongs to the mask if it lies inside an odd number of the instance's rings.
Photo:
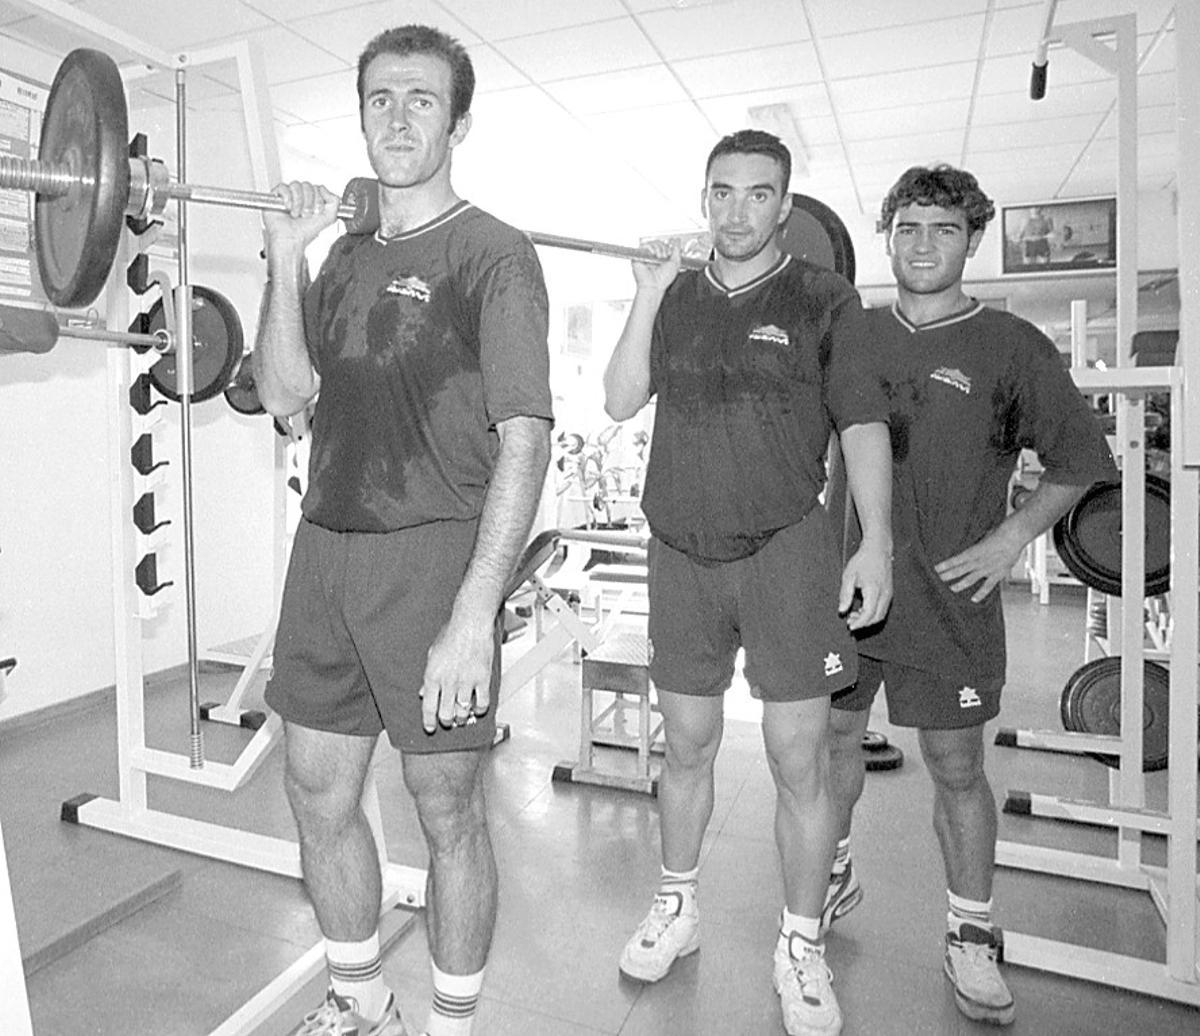
<path id="1" fill-rule="evenodd" d="M 704 563 L 652 538 L 650 679 L 676 694 L 722 694 L 738 648 L 755 697 L 828 696 L 858 675 L 854 639 L 838 615 L 840 553 L 814 507 L 746 558 Z"/>

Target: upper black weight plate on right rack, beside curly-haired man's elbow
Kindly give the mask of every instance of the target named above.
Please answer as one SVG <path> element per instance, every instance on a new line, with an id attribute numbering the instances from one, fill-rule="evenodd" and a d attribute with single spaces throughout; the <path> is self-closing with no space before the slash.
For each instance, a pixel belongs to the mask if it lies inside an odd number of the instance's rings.
<path id="1" fill-rule="evenodd" d="M 1146 475 L 1146 597 L 1171 585 L 1171 484 Z M 1121 481 L 1097 483 L 1054 526 L 1054 545 L 1075 579 L 1121 595 Z"/>

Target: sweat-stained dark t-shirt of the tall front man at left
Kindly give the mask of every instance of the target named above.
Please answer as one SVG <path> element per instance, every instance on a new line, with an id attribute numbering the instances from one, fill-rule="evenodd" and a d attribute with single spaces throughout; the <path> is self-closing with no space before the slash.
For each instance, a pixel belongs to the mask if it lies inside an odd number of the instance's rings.
<path id="1" fill-rule="evenodd" d="M 552 415 L 538 256 L 467 202 L 395 238 L 340 238 L 304 316 L 320 394 L 302 511 L 319 526 L 475 519 L 496 425 Z"/>

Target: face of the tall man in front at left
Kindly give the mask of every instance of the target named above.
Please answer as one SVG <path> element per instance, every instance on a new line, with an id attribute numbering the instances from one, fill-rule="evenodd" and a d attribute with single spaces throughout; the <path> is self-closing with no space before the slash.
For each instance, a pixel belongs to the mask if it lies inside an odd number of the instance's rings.
<path id="1" fill-rule="evenodd" d="M 449 169 L 470 126 L 450 122 L 450 66 L 433 54 L 380 54 L 362 77 L 362 136 L 388 187 L 413 187 Z"/>

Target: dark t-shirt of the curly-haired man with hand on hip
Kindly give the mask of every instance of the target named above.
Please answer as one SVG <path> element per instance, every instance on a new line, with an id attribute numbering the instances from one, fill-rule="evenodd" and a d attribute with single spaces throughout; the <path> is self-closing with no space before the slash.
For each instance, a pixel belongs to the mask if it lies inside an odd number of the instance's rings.
<path id="1" fill-rule="evenodd" d="M 972 604 L 934 571 L 998 526 L 1021 449 L 1042 478 L 1115 478 L 1108 444 L 1054 343 L 1010 313 L 974 303 L 923 327 L 898 306 L 870 310 L 892 407 L 894 597 L 859 651 L 965 683 L 1004 677 L 998 592 Z"/>

